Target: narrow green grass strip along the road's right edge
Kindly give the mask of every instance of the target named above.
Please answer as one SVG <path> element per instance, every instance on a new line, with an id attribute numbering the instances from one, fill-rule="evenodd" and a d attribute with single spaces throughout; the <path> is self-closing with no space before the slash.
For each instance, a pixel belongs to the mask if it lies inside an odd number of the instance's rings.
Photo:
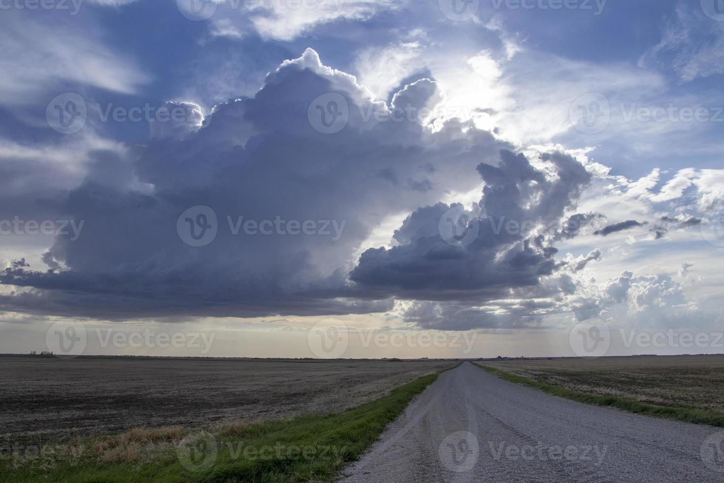
<path id="1" fill-rule="evenodd" d="M 501 379 L 516 384 L 522 384 L 534 389 L 542 390 L 548 394 L 560 396 L 561 398 L 571 399 L 579 403 L 593 404 L 595 406 L 612 406 L 622 411 L 628 411 L 636 414 L 644 414 L 646 416 L 656 416 L 657 418 L 675 419 L 677 421 L 685 421 L 694 424 L 710 424 L 711 426 L 724 427 L 724 415 L 720 413 L 712 413 L 696 408 L 681 408 L 676 406 L 657 406 L 655 404 L 641 403 L 641 401 L 619 398 L 618 396 L 605 396 L 591 394 L 590 392 L 580 392 L 567 389 L 565 387 L 554 386 L 537 382 L 529 377 L 519 376 L 512 372 L 503 371 L 491 366 L 475 364 L 484 371 L 488 371 Z"/>

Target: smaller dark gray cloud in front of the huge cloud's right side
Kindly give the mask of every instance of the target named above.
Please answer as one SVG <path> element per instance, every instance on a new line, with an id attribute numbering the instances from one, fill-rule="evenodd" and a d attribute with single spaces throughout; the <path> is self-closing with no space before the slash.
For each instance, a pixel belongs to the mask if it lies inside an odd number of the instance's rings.
<path id="1" fill-rule="evenodd" d="M 540 277 L 554 271 L 556 250 L 551 240 L 522 227 L 526 222 L 530 227 L 560 222 L 590 180 L 571 156 L 544 154 L 540 161 L 555 175 L 546 175 L 522 154 L 506 150 L 497 165 L 478 165 L 485 186 L 479 216 L 470 214 L 464 227 L 467 233 L 475 232 L 469 243 L 451 245 L 440 232 L 445 216 L 459 205 L 425 206 L 395 232 L 399 245 L 364 252 L 350 280 L 370 293 L 418 300 L 489 300 L 511 287 L 537 285 Z"/>

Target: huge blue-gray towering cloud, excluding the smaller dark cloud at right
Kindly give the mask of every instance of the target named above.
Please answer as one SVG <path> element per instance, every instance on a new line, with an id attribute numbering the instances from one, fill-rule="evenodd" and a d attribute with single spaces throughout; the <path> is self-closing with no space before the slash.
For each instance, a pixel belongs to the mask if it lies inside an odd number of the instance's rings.
<path id="1" fill-rule="evenodd" d="M 349 106 L 334 134 L 308 118 L 313 100 L 329 92 Z M 395 102 L 419 107 L 435 96 L 437 85 L 421 80 Z M 3 272 L 0 282 L 26 290 L 0 303 L 98 318 L 387 311 L 392 293 L 348 280 L 355 250 L 390 214 L 433 204 L 453 187 L 474 188 L 481 159 L 510 148 L 469 123 L 452 120 L 433 133 L 418 119 L 390 114 L 353 77 L 306 51 L 272 72 L 254 98 L 216 106 L 200 129 L 190 130 L 193 117 L 156 130 L 144 146 L 95 151 L 85 179 L 46 203 L 83 220 L 82 234 L 56 237 L 43 256 L 51 272 Z M 393 186 L 385 172 L 403 181 Z M 460 180 L 461 172 L 472 176 Z M 198 205 L 214 210 L 218 233 L 193 247 L 178 235 L 177 219 Z M 239 217 L 327 220 L 344 230 L 337 238 L 234 235 Z"/>

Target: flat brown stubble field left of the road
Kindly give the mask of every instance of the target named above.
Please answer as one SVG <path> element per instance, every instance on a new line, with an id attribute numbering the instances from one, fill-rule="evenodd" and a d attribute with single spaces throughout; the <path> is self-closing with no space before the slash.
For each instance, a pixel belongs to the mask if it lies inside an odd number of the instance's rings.
<path id="1" fill-rule="evenodd" d="M 0 441 L 331 413 L 450 365 L 0 356 Z"/>

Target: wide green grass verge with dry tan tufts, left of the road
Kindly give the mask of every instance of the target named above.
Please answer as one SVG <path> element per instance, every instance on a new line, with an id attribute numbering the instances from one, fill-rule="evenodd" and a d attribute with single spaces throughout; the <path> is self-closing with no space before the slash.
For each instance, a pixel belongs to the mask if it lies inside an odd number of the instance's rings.
<path id="1" fill-rule="evenodd" d="M 6 451 L 0 458 L 0 481 L 329 482 L 348 463 L 365 453 L 387 424 L 400 416 L 410 401 L 442 372 L 419 377 L 382 398 L 340 413 L 262 421 L 232 435 L 206 432 L 208 439 L 199 440 L 201 450 L 187 453 L 192 459 L 180 457 L 177 445 L 167 443 L 156 449 L 145 446 L 140 455 L 130 461 L 101 462 L 91 448 L 104 437 L 83 440 L 80 443 L 83 451 L 78 458 L 31 458 L 18 464 L 17 458 L 12 454 L 8 458 Z M 198 434 L 204 433 L 190 432 L 185 437 L 196 441 L 193 435 Z M 204 456 L 211 454 L 209 444 L 216 448 L 216 454 L 211 464 L 203 465 Z M 190 468 L 188 461 L 198 467 Z"/>

